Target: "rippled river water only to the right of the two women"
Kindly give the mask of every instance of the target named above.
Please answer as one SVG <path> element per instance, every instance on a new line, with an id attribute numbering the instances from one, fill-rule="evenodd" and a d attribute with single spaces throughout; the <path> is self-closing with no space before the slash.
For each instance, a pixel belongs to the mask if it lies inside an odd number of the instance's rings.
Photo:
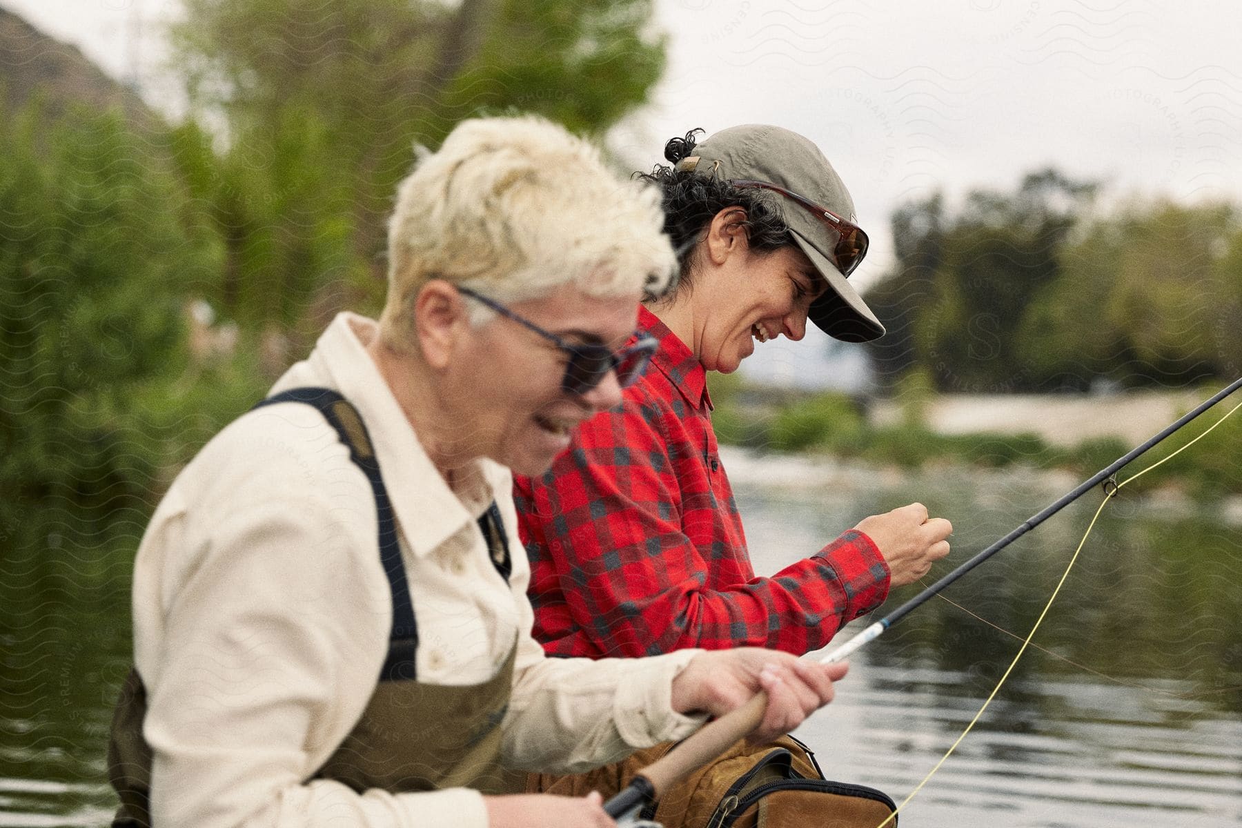
<path id="1" fill-rule="evenodd" d="M 920 500 L 954 523 L 954 551 L 930 583 L 1076 484 L 953 468 L 905 479 L 748 454 L 727 463 L 761 575 L 873 511 Z M 1231 513 L 1174 493 L 1122 493 L 1032 648 L 902 826 L 1242 826 L 1236 504 Z M 1084 495 L 949 587 L 949 601 L 928 602 L 854 654 L 837 699 L 797 731 L 828 778 L 898 803 L 914 791 L 1000 682 L 1100 499 Z M 895 590 L 886 608 L 920 588 Z"/>

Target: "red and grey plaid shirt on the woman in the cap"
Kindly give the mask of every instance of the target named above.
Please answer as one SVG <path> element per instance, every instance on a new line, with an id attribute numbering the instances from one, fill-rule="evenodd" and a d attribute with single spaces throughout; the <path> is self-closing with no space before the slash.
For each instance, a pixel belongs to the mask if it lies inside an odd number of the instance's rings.
<path id="1" fill-rule="evenodd" d="M 530 557 L 534 634 L 553 655 L 641 657 L 687 647 L 823 647 L 888 593 L 888 566 L 850 530 L 755 577 L 717 456 L 707 374 L 646 308 L 660 340 L 620 407 L 584 423 L 514 498 Z"/>

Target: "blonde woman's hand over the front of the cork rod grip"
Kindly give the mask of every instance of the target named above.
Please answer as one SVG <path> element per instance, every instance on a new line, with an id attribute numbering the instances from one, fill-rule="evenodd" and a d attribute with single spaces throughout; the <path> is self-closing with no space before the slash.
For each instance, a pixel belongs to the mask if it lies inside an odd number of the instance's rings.
<path id="1" fill-rule="evenodd" d="M 673 679 L 673 710 L 720 716 L 765 690 L 768 709 L 750 735 L 764 742 L 832 701 L 832 683 L 848 669 L 848 662 L 820 664 L 756 647 L 699 653 Z"/>

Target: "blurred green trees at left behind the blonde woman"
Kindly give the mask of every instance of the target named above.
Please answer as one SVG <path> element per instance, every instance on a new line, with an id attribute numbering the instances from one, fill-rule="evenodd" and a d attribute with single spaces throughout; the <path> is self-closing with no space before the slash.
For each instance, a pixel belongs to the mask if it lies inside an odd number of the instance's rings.
<path id="1" fill-rule="evenodd" d="M 338 309 L 376 310 L 415 139 L 508 108 L 599 134 L 663 67 L 650 0 L 184 10 L 170 67 L 197 120 L 0 124 L 5 530 L 32 505 L 144 510 Z M 196 300 L 231 346 L 195 344 Z"/>

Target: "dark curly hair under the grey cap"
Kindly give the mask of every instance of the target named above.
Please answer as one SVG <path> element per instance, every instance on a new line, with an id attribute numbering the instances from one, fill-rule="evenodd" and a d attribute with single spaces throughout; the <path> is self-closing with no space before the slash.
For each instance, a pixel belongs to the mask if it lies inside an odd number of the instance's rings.
<path id="1" fill-rule="evenodd" d="M 741 226 L 751 250 L 771 252 L 792 242 L 780 209 L 764 190 L 744 190 L 714 175 L 676 169 L 678 161 L 694 154 L 694 137 L 702 132 L 692 129 L 664 144 L 664 158 L 672 166 L 657 164 L 651 173 L 635 174 L 635 178 L 658 186 L 663 194 L 664 232 L 673 242 L 681 266 L 681 278 L 662 297 L 666 299 L 679 290 L 693 289 L 698 243 L 705 238 L 712 218 L 725 207 L 738 206 L 746 211 Z M 656 298 L 648 294 L 643 300 Z"/>

